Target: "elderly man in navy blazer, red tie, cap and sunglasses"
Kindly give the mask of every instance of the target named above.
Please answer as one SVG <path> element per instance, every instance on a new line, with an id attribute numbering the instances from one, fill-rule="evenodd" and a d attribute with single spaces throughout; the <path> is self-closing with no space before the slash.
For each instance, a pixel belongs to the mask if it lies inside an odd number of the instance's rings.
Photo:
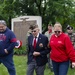
<path id="1" fill-rule="evenodd" d="M 32 35 L 28 37 L 28 69 L 27 75 L 44 75 L 45 65 L 47 63 L 48 38 L 39 33 L 38 25 L 32 30 Z"/>

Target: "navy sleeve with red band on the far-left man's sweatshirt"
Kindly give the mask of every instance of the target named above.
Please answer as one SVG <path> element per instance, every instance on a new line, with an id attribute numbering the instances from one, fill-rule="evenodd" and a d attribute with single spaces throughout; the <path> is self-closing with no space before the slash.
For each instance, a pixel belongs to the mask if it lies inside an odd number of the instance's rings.
<path id="1" fill-rule="evenodd" d="M 17 39 L 16 39 L 15 34 L 11 31 L 9 35 L 10 35 L 10 37 L 9 37 L 10 45 L 7 48 L 8 52 L 13 50 L 17 44 Z"/>

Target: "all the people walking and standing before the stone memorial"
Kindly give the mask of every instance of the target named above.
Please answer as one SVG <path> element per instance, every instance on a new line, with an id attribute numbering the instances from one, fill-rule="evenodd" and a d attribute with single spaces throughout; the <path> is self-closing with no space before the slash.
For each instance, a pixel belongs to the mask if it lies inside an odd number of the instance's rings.
<path id="1" fill-rule="evenodd" d="M 63 33 L 62 25 L 55 23 L 53 32 L 52 25 L 44 34 L 40 33 L 38 25 L 30 27 L 31 31 L 27 38 L 27 74 L 44 75 L 48 54 L 54 75 L 67 75 L 71 61 L 72 68 L 75 67 L 75 37 L 72 34 L 72 27 L 67 27 L 69 33 Z M 68 35 L 69 36 L 68 36 Z M 0 63 L 7 68 L 9 75 L 16 75 L 13 62 L 13 49 L 16 46 L 16 36 L 7 27 L 4 20 L 0 20 Z"/>

